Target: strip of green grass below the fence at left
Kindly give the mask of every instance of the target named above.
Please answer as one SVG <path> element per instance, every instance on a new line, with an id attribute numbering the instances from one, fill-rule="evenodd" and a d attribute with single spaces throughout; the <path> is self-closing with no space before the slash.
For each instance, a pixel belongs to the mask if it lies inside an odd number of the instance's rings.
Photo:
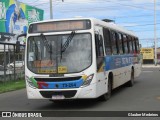
<path id="1" fill-rule="evenodd" d="M 7 81 L 0 83 L 0 93 L 25 88 L 25 80 Z"/>

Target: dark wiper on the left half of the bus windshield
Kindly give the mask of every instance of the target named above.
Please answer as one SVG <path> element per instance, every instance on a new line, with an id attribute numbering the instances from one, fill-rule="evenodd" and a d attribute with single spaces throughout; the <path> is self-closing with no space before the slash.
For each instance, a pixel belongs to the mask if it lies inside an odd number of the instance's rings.
<path id="1" fill-rule="evenodd" d="M 41 33 L 40 36 L 42 38 L 42 41 L 43 41 L 44 45 L 47 47 L 48 52 L 50 53 L 50 59 L 52 61 L 52 45 L 49 44 L 47 38 L 45 37 L 45 35 L 43 35 L 43 33 Z"/>

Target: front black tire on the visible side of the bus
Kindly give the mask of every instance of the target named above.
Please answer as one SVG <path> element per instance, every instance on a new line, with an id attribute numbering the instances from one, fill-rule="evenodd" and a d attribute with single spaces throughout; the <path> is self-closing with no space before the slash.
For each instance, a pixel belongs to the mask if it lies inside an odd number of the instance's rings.
<path id="1" fill-rule="evenodd" d="M 111 79 L 108 78 L 108 92 L 102 95 L 100 99 L 102 101 L 107 101 L 108 99 L 110 99 L 111 93 L 112 93 L 112 82 L 111 82 Z"/>

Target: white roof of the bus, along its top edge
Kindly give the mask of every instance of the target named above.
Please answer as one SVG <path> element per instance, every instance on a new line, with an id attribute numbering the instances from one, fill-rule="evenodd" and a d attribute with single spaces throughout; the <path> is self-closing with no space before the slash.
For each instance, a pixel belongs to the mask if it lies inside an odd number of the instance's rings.
<path id="1" fill-rule="evenodd" d="M 33 22 L 31 24 L 36 24 L 36 23 L 45 23 L 45 22 L 54 22 L 54 21 L 65 21 L 65 20 L 86 20 L 89 19 L 91 20 L 95 25 L 99 25 L 99 26 L 103 26 L 106 28 L 109 28 L 111 30 L 115 30 L 118 32 L 122 32 L 125 33 L 126 35 L 131 35 L 131 36 L 136 36 L 136 34 L 133 31 L 129 31 L 126 28 L 119 26 L 113 22 L 105 22 L 96 18 L 66 18 L 66 19 L 54 19 L 54 20 L 43 20 L 43 21 L 39 21 L 39 22 Z"/>

